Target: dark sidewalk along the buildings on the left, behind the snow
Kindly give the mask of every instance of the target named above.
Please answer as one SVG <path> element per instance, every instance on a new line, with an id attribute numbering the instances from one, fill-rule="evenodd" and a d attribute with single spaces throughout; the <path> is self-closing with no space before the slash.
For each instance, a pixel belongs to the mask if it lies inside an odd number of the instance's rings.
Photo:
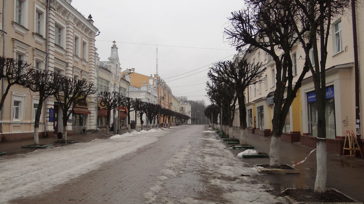
<path id="1" fill-rule="evenodd" d="M 140 128 L 137 128 L 139 131 Z M 124 134 L 127 132 L 127 129 L 121 130 L 121 133 Z M 79 135 L 69 135 L 67 136 L 67 140 L 78 140 L 79 142 L 89 142 L 94 139 L 107 139 L 110 136 L 105 135 L 106 132 L 94 132 L 94 133 L 88 133 L 88 134 L 79 134 Z M 115 135 L 113 131 L 109 131 L 110 135 Z M 48 137 L 48 138 L 39 138 L 39 144 L 52 144 L 53 146 L 48 147 L 58 147 L 58 146 L 65 146 L 65 145 L 71 145 L 68 143 L 55 143 L 57 141 L 57 137 Z M 20 140 L 20 141 L 13 141 L 13 142 L 0 142 L 0 151 L 1 152 L 7 152 L 6 155 L 12 155 L 12 154 L 24 154 L 27 152 L 32 152 L 37 150 L 38 148 L 22 148 L 22 145 L 27 144 L 34 144 L 34 140 Z"/>

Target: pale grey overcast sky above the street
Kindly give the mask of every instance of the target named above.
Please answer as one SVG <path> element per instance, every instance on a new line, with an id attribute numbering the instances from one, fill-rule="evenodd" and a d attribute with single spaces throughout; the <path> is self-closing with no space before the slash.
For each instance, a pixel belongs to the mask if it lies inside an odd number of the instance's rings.
<path id="1" fill-rule="evenodd" d="M 243 1 L 74 0 L 71 5 L 86 17 L 92 15 L 101 32 L 96 37 L 101 61 L 110 57 L 115 40 L 121 68 L 135 68 L 135 72 L 149 76 L 156 72 L 155 44 L 158 44 L 159 76 L 171 87 L 173 95 L 204 99 L 210 104 L 204 96 L 207 69 L 211 63 L 231 60 L 236 53 L 224 38 L 223 30 L 228 26 L 230 12 L 241 9 Z M 186 72 L 190 73 L 183 74 Z"/>

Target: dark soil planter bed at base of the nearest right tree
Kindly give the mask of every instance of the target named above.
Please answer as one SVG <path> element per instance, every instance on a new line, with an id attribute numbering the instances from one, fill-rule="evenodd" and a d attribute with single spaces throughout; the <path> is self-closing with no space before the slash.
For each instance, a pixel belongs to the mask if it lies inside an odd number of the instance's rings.
<path id="1" fill-rule="evenodd" d="M 288 188 L 281 195 L 290 204 L 363 204 L 333 188 L 326 189 L 324 193 L 315 193 L 313 189 Z"/>

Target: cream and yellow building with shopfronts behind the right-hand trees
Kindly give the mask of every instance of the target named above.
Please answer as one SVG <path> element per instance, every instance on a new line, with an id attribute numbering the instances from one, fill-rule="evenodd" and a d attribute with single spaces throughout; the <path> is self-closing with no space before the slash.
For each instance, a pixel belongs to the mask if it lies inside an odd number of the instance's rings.
<path id="1" fill-rule="evenodd" d="M 356 13 L 361 13 L 363 8 L 357 7 Z M 364 67 L 364 17 L 356 16 L 359 45 L 359 68 Z M 334 37 L 334 40 L 332 39 Z M 342 153 L 346 129 L 356 130 L 355 118 L 355 71 L 353 55 L 353 28 L 351 12 L 332 21 L 331 33 L 328 42 L 328 59 L 326 69 L 326 117 L 327 117 L 327 148 L 336 154 Z M 293 61 L 293 82 L 297 80 L 304 65 L 305 53 L 300 44 L 291 51 Z M 254 53 L 239 53 L 233 60 L 248 59 L 250 62 L 263 62 L 266 71 L 262 75 L 263 83 L 251 85 L 245 90 L 247 124 L 250 132 L 258 135 L 269 136 L 272 130 L 273 118 L 273 91 L 276 83 L 276 70 L 274 61 L 262 50 Z M 359 78 L 364 77 L 360 72 Z M 360 90 L 364 90 L 364 82 L 360 80 Z M 308 147 L 316 146 L 316 99 L 314 94 L 312 75 L 308 72 L 302 81 L 302 86 L 297 92 L 286 118 L 281 140 L 286 142 L 300 142 Z M 364 108 L 364 95 L 360 94 L 360 109 Z M 360 111 L 362 112 L 362 111 Z M 364 125 L 364 115 L 361 115 L 361 124 Z M 234 127 L 239 128 L 238 114 L 234 119 Z M 363 139 L 363 137 L 362 137 Z"/>

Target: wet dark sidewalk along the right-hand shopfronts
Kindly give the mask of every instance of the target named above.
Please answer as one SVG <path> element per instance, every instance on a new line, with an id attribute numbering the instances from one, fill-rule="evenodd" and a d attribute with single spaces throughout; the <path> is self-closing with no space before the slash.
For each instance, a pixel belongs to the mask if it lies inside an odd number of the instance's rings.
<path id="1" fill-rule="evenodd" d="M 240 139 L 240 130 L 234 130 L 234 138 Z M 269 153 L 270 137 L 248 134 L 249 144 L 258 152 Z M 227 145 L 230 146 L 230 145 Z M 300 146 L 299 143 L 280 142 L 280 156 L 282 164 L 296 164 L 304 160 L 312 148 Z M 237 155 L 242 150 L 230 150 Z M 254 164 L 269 164 L 269 158 L 242 158 L 242 161 L 253 166 Z M 275 192 L 284 188 L 314 188 L 316 178 L 316 151 L 304 163 L 295 166 L 300 174 L 264 175 L 274 186 Z M 364 201 L 363 189 L 364 159 L 350 158 L 336 154 L 327 154 L 327 186 Z"/>

